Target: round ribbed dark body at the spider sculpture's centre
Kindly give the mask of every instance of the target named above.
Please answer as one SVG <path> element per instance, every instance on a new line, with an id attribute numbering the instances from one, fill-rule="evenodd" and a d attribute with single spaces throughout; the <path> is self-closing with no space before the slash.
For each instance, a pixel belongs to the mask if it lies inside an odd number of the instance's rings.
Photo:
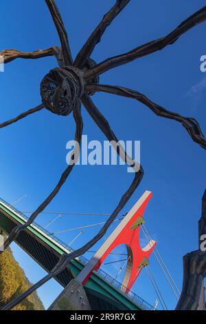
<path id="1" fill-rule="evenodd" d="M 73 110 L 84 92 L 80 70 L 71 66 L 51 70 L 41 81 L 41 97 L 45 108 L 62 116 Z"/>

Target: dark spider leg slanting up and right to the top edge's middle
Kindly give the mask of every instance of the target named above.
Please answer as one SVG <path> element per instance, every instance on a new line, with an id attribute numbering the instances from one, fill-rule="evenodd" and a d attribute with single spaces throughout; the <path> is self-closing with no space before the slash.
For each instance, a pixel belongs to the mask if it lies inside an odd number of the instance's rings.
<path id="1" fill-rule="evenodd" d="M 124 9 L 124 7 L 130 2 L 130 0 L 117 0 L 115 5 L 109 10 L 99 25 L 95 28 L 87 42 L 83 45 L 82 49 L 78 53 L 75 61 L 73 62 L 73 66 L 76 68 L 83 68 L 84 64 L 87 62 L 87 59 L 91 57 L 91 53 L 93 52 L 95 46 L 100 43 L 102 34 L 106 28 L 111 24 L 113 19 L 117 17 L 117 15 Z"/>

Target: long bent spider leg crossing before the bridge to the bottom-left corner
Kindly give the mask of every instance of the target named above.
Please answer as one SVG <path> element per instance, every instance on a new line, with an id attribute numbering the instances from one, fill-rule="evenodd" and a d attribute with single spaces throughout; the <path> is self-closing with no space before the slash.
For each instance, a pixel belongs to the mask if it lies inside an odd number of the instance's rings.
<path id="1" fill-rule="evenodd" d="M 111 130 L 110 126 L 108 125 L 108 121 L 106 121 L 106 119 L 102 116 L 102 114 L 100 113 L 98 108 L 95 107 L 93 101 L 91 101 L 91 99 L 86 94 L 82 97 L 81 100 L 82 100 L 82 103 L 84 104 L 85 108 L 89 112 L 89 114 L 91 114 L 91 117 L 93 118 L 95 123 L 97 123 L 97 125 L 100 127 L 102 132 L 104 132 L 104 134 L 109 139 L 109 141 L 118 141 L 117 137 L 115 136 L 115 134 Z M 143 171 L 142 167 L 140 166 L 140 168 L 139 168 L 139 164 L 136 163 L 135 161 L 133 161 L 132 159 L 130 159 L 128 154 L 126 154 L 126 152 L 124 152 L 124 150 L 122 148 L 120 148 L 119 150 L 120 150 L 120 152 L 117 150 L 117 153 L 122 157 L 122 159 L 126 159 L 127 163 L 130 165 L 133 164 L 135 171 L 136 171 L 135 167 L 137 167 L 139 172 L 134 172 L 135 178 L 133 180 L 133 183 L 130 185 L 128 190 L 126 190 L 126 192 L 123 194 L 117 207 L 115 208 L 115 210 L 113 211 L 113 213 L 111 214 L 109 219 L 106 221 L 106 223 L 104 224 L 104 226 L 102 227 L 100 232 L 98 232 L 98 234 L 96 234 L 93 237 L 93 239 L 91 239 L 91 241 L 87 242 L 84 246 L 80 247 L 80 249 L 73 251 L 69 254 L 62 254 L 60 256 L 58 263 L 56 263 L 56 266 L 52 269 L 52 271 L 49 274 L 47 274 L 47 276 L 43 277 L 43 279 L 38 281 L 38 283 L 35 283 L 26 292 L 24 292 L 21 296 L 19 296 L 19 298 L 16 298 L 14 301 L 11 301 L 7 305 L 5 305 L 1 310 L 11 310 L 18 303 L 21 303 L 21 301 L 23 301 L 23 299 L 25 299 L 27 296 L 30 296 L 30 294 L 32 294 L 32 292 L 34 292 L 36 289 L 41 287 L 44 283 L 47 283 L 47 281 L 54 278 L 54 276 L 57 276 L 58 274 L 60 274 L 60 272 L 65 270 L 65 268 L 67 267 L 67 265 L 71 261 L 71 259 L 74 259 L 74 258 L 84 254 L 95 243 L 97 243 L 100 239 L 102 239 L 102 237 L 108 230 L 108 227 L 115 220 L 115 217 L 117 216 L 117 214 L 119 214 L 119 212 L 122 210 L 124 205 L 126 205 L 128 200 L 130 199 L 130 196 L 132 196 L 133 193 L 135 192 L 137 186 L 141 182 L 141 179 L 144 175 L 144 171 Z"/>

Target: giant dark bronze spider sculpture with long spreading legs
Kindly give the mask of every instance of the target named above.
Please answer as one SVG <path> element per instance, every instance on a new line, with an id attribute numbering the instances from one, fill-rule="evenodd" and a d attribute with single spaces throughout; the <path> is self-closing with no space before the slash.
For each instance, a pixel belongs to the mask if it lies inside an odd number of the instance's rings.
<path id="1" fill-rule="evenodd" d="M 137 101 L 144 103 L 144 105 L 152 110 L 152 112 L 155 112 L 155 114 L 157 114 L 158 116 L 179 121 L 179 123 L 181 123 L 190 134 L 193 141 L 201 145 L 201 147 L 206 148 L 205 137 L 203 136 L 201 128 L 195 119 L 183 117 L 175 112 L 170 112 L 161 107 L 161 105 L 152 102 L 150 99 L 148 99 L 148 97 L 146 97 L 144 94 L 141 94 L 140 92 L 119 86 L 102 85 L 100 84 L 99 80 L 100 74 L 106 72 L 107 70 L 111 70 L 112 68 L 115 68 L 119 65 L 138 59 L 139 57 L 144 57 L 148 54 L 151 54 L 152 52 L 156 52 L 157 50 L 162 50 L 167 45 L 173 44 L 179 39 L 179 37 L 181 37 L 182 34 L 196 26 L 198 23 L 202 23 L 206 20 L 206 6 L 201 8 L 201 10 L 198 10 L 198 12 L 192 14 L 192 16 L 183 21 L 177 28 L 172 30 L 172 32 L 170 32 L 170 34 L 166 35 L 165 37 L 161 37 L 159 39 L 156 39 L 155 41 L 150 41 L 149 43 L 140 45 L 130 52 L 118 55 L 116 57 L 111 57 L 99 64 L 96 64 L 95 61 L 91 59 L 91 54 L 95 48 L 95 45 L 100 42 L 102 34 L 104 34 L 106 28 L 110 25 L 113 19 L 115 19 L 119 12 L 121 12 L 124 7 L 130 2 L 130 0 L 116 0 L 115 5 L 104 15 L 102 21 L 99 23 L 97 28 L 95 28 L 87 42 L 83 45 L 74 61 L 71 57 L 67 32 L 65 30 L 64 23 L 62 22 L 62 18 L 60 17 L 60 12 L 58 11 L 56 3 L 54 0 L 45 0 L 45 2 L 47 4 L 47 7 L 49 8 L 52 19 L 56 26 L 56 30 L 58 32 L 61 43 L 61 48 L 53 47 L 48 48 L 47 50 L 37 50 L 36 52 L 3 50 L 1 52 L 1 56 L 3 56 L 5 63 L 9 63 L 16 58 L 38 59 L 41 57 L 54 55 L 58 61 L 58 68 L 51 70 L 41 82 L 41 105 L 38 105 L 36 108 L 28 110 L 27 112 L 23 112 L 23 114 L 20 114 L 18 117 L 11 119 L 10 121 L 1 123 L 0 128 L 10 125 L 11 123 L 18 121 L 19 119 L 23 119 L 29 114 L 38 112 L 43 108 L 50 110 L 54 114 L 62 116 L 67 116 L 68 114 L 73 112 L 73 119 L 76 123 L 75 139 L 76 141 L 78 141 L 78 143 L 80 143 L 83 127 L 80 107 L 82 103 L 87 112 L 89 112 L 93 121 L 95 121 L 95 123 L 98 125 L 100 130 L 102 130 L 107 139 L 109 141 L 117 142 L 117 137 L 111 130 L 108 121 L 106 121 L 102 113 L 98 110 L 91 99 L 91 96 L 95 94 L 95 92 L 102 91 L 136 99 Z M 134 179 L 128 190 L 126 190 L 126 192 L 120 199 L 119 204 L 109 217 L 108 221 L 106 221 L 106 224 L 102 227 L 100 232 L 83 247 L 76 250 L 75 252 L 72 252 L 71 254 L 62 254 L 54 269 L 49 274 L 47 274 L 47 276 L 30 287 L 27 292 L 23 293 L 19 298 L 16 298 L 15 301 L 12 301 L 8 303 L 8 305 L 5 305 L 5 307 L 3 307 L 3 310 L 9 310 L 16 304 L 20 303 L 24 298 L 34 292 L 34 290 L 36 290 L 38 287 L 41 287 L 43 283 L 49 281 L 49 279 L 52 279 L 54 276 L 65 270 L 65 267 L 67 267 L 67 264 L 69 263 L 69 261 L 71 261 L 71 259 L 84 254 L 84 252 L 87 252 L 89 248 L 91 248 L 102 238 L 102 236 L 104 236 L 106 230 L 111 225 L 111 223 L 113 223 L 117 214 L 120 212 L 120 210 L 122 210 L 128 199 L 130 199 L 130 196 L 132 196 L 133 192 L 135 192 L 135 189 L 139 185 L 144 175 L 143 168 L 141 167 L 141 165 L 133 161 L 130 156 L 128 156 L 128 154 L 124 152 L 121 146 L 119 147 L 117 145 L 114 146 L 114 148 L 115 150 L 117 150 L 119 156 L 121 156 L 121 158 L 126 161 L 126 163 L 133 166 Z M 63 183 L 65 183 L 67 177 L 73 169 L 73 165 L 75 165 L 76 163 L 76 161 L 72 161 L 75 159 L 76 150 L 77 148 L 74 148 L 73 154 L 71 155 L 71 163 L 62 173 L 62 176 L 60 177 L 60 180 L 58 181 L 58 184 L 56 185 L 54 190 L 52 190 L 45 201 L 43 201 L 43 203 L 38 206 L 35 212 L 28 219 L 27 223 L 14 227 L 14 229 L 8 236 L 8 239 L 5 241 L 5 248 L 8 247 L 10 243 L 12 243 L 12 241 L 14 241 L 16 237 L 34 221 L 34 219 L 36 219 L 36 216 L 38 216 L 38 214 L 42 212 L 45 207 L 47 207 L 50 201 L 54 199 L 56 194 L 58 194 L 58 191 L 62 187 Z"/>

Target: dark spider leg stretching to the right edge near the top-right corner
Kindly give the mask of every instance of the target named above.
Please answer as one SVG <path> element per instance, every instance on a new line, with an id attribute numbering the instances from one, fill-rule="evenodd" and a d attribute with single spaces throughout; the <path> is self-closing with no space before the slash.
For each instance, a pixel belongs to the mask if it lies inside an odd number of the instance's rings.
<path id="1" fill-rule="evenodd" d="M 179 37 L 181 37 L 181 35 L 185 34 L 185 32 L 205 20 L 206 6 L 192 14 L 192 16 L 190 16 L 189 18 L 185 19 L 185 21 L 183 21 L 165 37 L 161 37 L 159 39 L 156 39 L 155 41 L 150 41 L 149 43 L 140 45 L 130 52 L 106 59 L 105 61 L 102 61 L 102 63 L 99 63 L 98 65 L 95 65 L 95 67 L 84 72 L 84 77 L 86 79 L 93 79 L 93 77 L 111 70 L 112 68 L 116 68 L 119 65 L 133 61 L 135 59 L 138 59 L 139 57 L 144 57 L 153 52 L 157 52 L 157 50 L 163 50 L 163 48 L 165 48 L 166 46 L 175 43 L 179 39 Z"/>

